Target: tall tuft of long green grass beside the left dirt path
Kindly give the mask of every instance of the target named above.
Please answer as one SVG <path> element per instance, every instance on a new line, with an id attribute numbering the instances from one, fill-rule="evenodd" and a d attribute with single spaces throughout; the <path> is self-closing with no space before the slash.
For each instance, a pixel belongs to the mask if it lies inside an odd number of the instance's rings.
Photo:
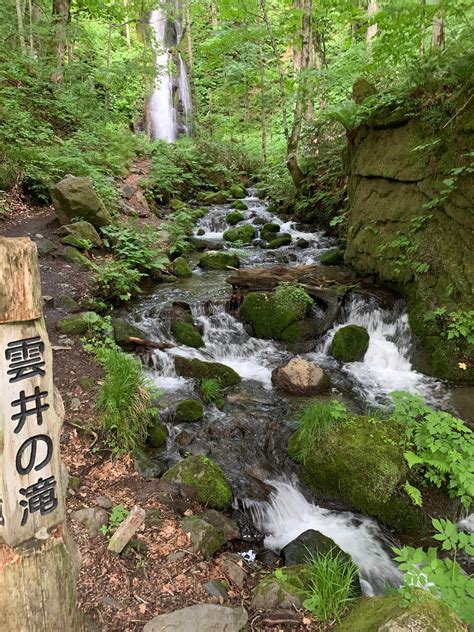
<path id="1" fill-rule="evenodd" d="M 97 410 L 106 442 L 116 455 L 144 445 L 154 409 L 140 362 L 117 348 L 99 347 L 95 356 L 105 369 Z"/>

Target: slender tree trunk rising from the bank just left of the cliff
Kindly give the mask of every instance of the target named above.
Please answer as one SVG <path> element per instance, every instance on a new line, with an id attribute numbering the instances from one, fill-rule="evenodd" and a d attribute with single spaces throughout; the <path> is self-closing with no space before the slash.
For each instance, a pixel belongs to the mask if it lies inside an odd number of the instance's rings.
<path id="1" fill-rule="evenodd" d="M 312 0 L 303 0 L 303 17 L 301 21 L 301 71 L 298 81 L 293 128 L 287 142 L 286 165 L 297 189 L 300 189 L 305 181 L 304 173 L 298 165 L 298 146 L 301 136 L 303 117 L 308 102 L 306 94 L 306 71 L 309 68 L 312 46 Z"/>

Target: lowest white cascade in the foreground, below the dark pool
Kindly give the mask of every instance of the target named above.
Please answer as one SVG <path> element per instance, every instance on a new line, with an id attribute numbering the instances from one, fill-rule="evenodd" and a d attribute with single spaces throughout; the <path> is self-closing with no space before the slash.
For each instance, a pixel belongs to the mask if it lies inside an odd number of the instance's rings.
<path id="1" fill-rule="evenodd" d="M 366 516 L 322 509 L 306 500 L 289 481 L 267 481 L 274 488 L 267 502 L 246 501 L 255 525 L 265 532 L 265 546 L 280 551 L 307 531 L 319 531 L 348 553 L 359 568 L 366 596 L 401 584 L 401 574 L 387 551 L 395 543 Z"/>

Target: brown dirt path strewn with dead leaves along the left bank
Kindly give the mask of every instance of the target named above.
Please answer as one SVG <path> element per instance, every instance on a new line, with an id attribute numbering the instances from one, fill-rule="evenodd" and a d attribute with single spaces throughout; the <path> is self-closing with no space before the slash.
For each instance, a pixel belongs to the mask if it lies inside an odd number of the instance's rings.
<path id="1" fill-rule="evenodd" d="M 142 168 L 132 170 L 126 184 L 135 183 Z M 141 208 L 140 196 L 128 200 L 143 222 L 156 224 Z M 78 336 L 60 335 L 57 321 L 65 312 L 54 306 L 61 294 L 81 301 L 87 296 L 89 272 L 81 272 L 61 257 L 59 222 L 52 207 L 25 204 L 13 192 L 8 200 L 11 216 L 0 223 L 5 237 L 27 236 L 35 241 L 51 240 L 55 249 L 40 256 L 44 316 L 54 351 L 55 383 L 62 395 L 66 417 L 61 440 L 62 458 L 74 477 L 74 489 L 67 493 L 68 526 L 79 545 L 82 566 L 78 579 L 78 600 L 91 620 L 90 630 L 131 632 L 142 630 L 154 616 L 197 603 L 222 603 L 211 597 L 204 585 L 213 579 L 227 581 L 228 605 L 243 605 L 249 611 L 249 630 L 327 630 L 302 611 L 258 612 L 250 610 L 251 591 L 260 575 L 255 567 L 245 568 L 242 588 L 229 581 L 221 568 L 225 552 L 210 561 L 191 551 L 190 541 L 180 528 L 183 515 L 204 510 L 196 502 L 176 493 L 157 479 L 144 480 L 135 470 L 133 458 L 113 457 L 97 440 L 94 406 L 102 370 L 82 348 Z M 84 380 L 83 378 L 89 378 Z M 86 430 L 84 430 L 86 429 Z M 134 546 L 121 556 L 107 551 L 108 539 L 91 537 L 84 526 L 71 520 L 73 511 L 85 507 L 135 504 L 146 510 L 145 525 Z M 268 570 L 268 569 L 267 569 Z M 271 572 L 271 571 L 270 571 Z"/>

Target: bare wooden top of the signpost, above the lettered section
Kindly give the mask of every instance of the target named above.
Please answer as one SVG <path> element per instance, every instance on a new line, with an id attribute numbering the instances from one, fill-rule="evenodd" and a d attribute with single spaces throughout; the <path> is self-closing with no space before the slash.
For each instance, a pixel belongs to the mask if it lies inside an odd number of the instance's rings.
<path id="1" fill-rule="evenodd" d="M 36 320 L 43 314 L 36 244 L 0 237 L 0 323 Z"/>

